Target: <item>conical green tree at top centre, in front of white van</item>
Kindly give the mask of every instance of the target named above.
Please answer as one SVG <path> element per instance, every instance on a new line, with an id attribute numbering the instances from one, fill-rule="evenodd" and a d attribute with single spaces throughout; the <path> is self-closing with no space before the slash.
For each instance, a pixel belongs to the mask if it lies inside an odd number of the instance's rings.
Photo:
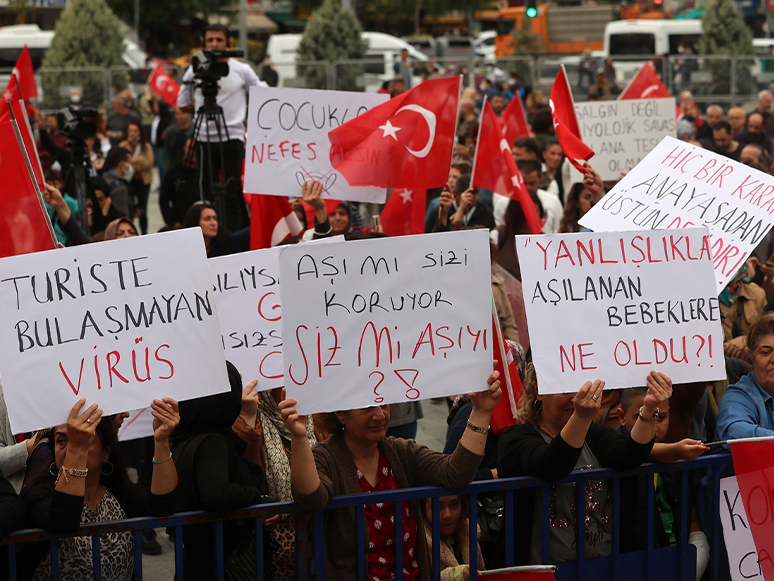
<path id="1" fill-rule="evenodd" d="M 298 60 L 329 61 L 359 60 L 365 56 L 368 43 L 360 38 L 362 28 L 349 8 L 342 9 L 340 0 L 325 0 L 312 13 L 298 44 Z M 296 74 L 306 79 L 311 89 L 328 88 L 328 69 L 321 64 L 299 64 Z M 362 91 L 357 80 L 363 75 L 362 65 L 338 65 L 334 71 L 335 87 L 339 91 Z"/>

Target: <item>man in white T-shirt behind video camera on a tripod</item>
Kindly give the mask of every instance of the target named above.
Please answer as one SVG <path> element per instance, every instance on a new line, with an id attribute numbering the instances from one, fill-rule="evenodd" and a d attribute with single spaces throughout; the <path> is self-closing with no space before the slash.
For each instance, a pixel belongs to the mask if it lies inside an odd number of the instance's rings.
<path id="1" fill-rule="evenodd" d="M 193 114 L 194 105 L 196 110 L 201 110 L 204 106 L 208 87 L 217 92 L 217 105 L 223 109 L 225 127 L 218 127 L 214 121 L 209 121 L 202 123 L 198 134 L 195 135 L 198 144 L 199 183 L 203 198 L 216 202 L 212 185 L 221 181 L 222 173 L 222 181 L 226 184 L 226 216 L 219 216 L 219 219 L 225 221 L 230 232 L 234 232 L 250 224 L 242 196 L 247 97 L 250 87 L 265 87 L 266 84 L 258 78 L 250 65 L 229 58 L 242 56 L 241 52 L 228 50 L 230 37 L 228 28 L 222 24 L 207 26 L 202 42 L 204 50 L 198 59 L 198 55 L 194 56 L 193 65 L 183 75 L 183 87 L 177 98 L 177 106 L 182 111 Z M 212 163 L 209 163 L 208 159 Z"/>

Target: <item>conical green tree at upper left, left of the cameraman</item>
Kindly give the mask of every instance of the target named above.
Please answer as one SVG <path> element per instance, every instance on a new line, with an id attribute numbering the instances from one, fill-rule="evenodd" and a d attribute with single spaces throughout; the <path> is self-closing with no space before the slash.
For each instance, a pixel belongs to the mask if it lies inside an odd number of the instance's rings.
<path id="1" fill-rule="evenodd" d="M 121 24 L 105 0 L 71 0 L 56 23 L 54 38 L 43 58 L 44 68 L 123 65 Z M 84 103 L 99 106 L 104 100 L 102 71 L 52 71 L 41 74 L 43 109 L 59 109 L 78 87 Z"/>

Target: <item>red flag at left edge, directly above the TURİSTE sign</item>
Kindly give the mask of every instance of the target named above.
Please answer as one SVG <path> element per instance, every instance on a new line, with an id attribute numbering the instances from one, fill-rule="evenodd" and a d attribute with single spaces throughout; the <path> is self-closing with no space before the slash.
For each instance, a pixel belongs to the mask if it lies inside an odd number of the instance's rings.
<path id="1" fill-rule="evenodd" d="M 0 257 L 56 248 L 51 222 L 35 191 L 13 121 L 0 124 Z"/>

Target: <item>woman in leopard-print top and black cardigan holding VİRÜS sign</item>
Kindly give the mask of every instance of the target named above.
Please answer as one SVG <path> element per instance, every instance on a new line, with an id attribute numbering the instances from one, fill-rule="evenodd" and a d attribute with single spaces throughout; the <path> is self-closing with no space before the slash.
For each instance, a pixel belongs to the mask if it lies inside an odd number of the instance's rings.
<path id="1" fill-rule="evenodd" d="M 172 514 L 177 470 L 169 436 L 180 421 L 177 402 L 165 397 L 151 404 L 155 450 L 150 489 L 129 480 L 116 450 L 112 418 L 103 419 L 96 403 L 88 407 L 85 403 L 85 398 L 79 399 L 67 424 L 50 430 L 48 445 L 55 462 L 23 495 L 32 526 L 68 534 L 87 523 Z M 92 578 L 91 537 L 67 537 L 58 542 L 61 579 Z M 102 535 L 100 557 L 104 579 L 132 579 L 132 534 Z M 51 556 L 46 552 L 33 579 L 50 578 Z"/>

